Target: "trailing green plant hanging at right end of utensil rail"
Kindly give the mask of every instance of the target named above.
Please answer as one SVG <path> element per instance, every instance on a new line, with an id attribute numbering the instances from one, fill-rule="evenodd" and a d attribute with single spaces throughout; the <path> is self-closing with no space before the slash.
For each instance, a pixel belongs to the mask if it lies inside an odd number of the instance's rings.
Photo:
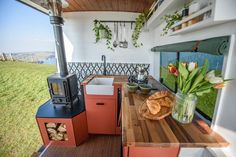
<path id="1" fill-rule="evenodd" d="M 134 45 L 134 47 L 140 47 L 143 45 L 142 43 L 138 44 L 138 39 L 139 39 L 141 30 L 146 22 L 147 15 L 148 15 L 148 12 L 141 13 L 135 19 L 135 28 L 132 34 L 132 44 Z"/>

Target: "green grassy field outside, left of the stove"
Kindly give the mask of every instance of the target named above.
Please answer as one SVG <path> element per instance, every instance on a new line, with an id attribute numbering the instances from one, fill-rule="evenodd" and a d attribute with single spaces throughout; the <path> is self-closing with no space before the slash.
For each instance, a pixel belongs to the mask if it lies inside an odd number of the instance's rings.
<path id="1" fill-rule="evenodd" d="M 35 114 L 49 99 L 46 78 L 56 67 L 0 62 L 0 156 L 30 156 L 42 145 Z"/>

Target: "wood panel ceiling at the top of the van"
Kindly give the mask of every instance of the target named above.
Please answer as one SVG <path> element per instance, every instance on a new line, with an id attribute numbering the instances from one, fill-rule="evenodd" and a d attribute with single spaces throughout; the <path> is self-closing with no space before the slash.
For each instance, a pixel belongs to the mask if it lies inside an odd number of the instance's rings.
<path id="1" fill-rule="evenodd" d="M 69 7 L 65 12 L 74 11 L 126 11 L 143 12 L 148 10 L 154 0 L 66 0 Z"/>

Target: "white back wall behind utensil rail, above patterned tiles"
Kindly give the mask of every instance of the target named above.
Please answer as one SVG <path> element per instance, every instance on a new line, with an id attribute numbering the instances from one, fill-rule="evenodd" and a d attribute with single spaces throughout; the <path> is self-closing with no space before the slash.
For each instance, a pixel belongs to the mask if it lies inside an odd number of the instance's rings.
<path id="1" fill-rule="evenodd" d="M 111 51 L 106 48 L 105 41 L 95 44 L 95 33 L 93 21 L 97 20 L 135 20 L 137 13 L 125 12 L 72 12 L 64 13 L 65 25 L 64 40 L 66 46 L 67 61 L 100 62 L 101 55 L 106 55 L 108 62 L 116 63 L 149 63 L 153 62 L 153 53 L 150 52 L 152 41 L 149 32 L 140 36 L 140 42 L 144 44 L 141 48 L 134 48 L 131 43 L 131 28 L 126 24 L 129 47 L 116 48 Z M 108 24 L 114 32 L 114 24 Z M 133 25 L 134 28 L 134 25 Z M 112 40 L 113 42 L 114 40 Z M 153 67 L 151 65 L 151 73 Z"/>

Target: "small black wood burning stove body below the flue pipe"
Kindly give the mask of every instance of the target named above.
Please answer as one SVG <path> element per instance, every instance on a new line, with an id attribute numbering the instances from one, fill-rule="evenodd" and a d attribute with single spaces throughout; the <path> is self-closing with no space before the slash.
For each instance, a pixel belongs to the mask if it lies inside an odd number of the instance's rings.
<path id="1" fill-rule="evenodd" d="M 75 74 L 66 76 L 54 74 L 49 76 L 47 81 L 54 107 L 65 105 L 71 108 L 78 102 L 78 83 Z"/>

